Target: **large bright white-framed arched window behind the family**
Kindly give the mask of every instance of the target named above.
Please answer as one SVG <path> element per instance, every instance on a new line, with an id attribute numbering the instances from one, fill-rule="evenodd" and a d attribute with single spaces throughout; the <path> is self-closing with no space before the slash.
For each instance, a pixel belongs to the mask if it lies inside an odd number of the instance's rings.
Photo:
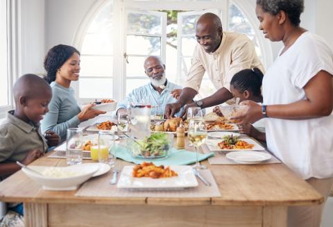
<path id="1" fill-rule="evenodd" d="M 81 28 L 85 33 L 77 37 L 82 40 L 78 99 L 113 97 L 121 100 L 133 88 L 148 83 L 143 68 L 148 54 L 160 56 L 167 65 L 169 81 L 181 84 L 196 44 L 195 34 L 190 32 L 194 30 L 184 29 L 194 28 L 196 19 L 207 11 L 221 17 L 225 31 L 248 35 L 264 65 L 271 62 L 271 47 L 265 46 L 264 38 L 258 35 L 255 8 L 248 8 L 248 1 L 104 0 L 98 3 L 94 17 L 86 28 Z M 198 10 L 203 8 L 206 10 Z M 91 89 L 92 82 L 98 89 Z M 214 92 L 214 86 L 205 76 L 200 97 Z"/>

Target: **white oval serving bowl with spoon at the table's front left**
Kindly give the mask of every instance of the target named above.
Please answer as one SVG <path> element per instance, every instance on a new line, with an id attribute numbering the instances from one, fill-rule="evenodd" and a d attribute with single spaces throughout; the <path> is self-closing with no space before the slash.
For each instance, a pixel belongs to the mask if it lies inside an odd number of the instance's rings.
<path id="1" fill-rule="evenodd" d="M 46 174 L 46 172 L 48 172 L 49 174 L 61 173 L 71 175 L 61 177 L 40 176 L 29 169 L 22 168 L 24 174 L 35 180 L 37 183 L 40 183 L 44 190 L 60 191 L 76 190 L 78 185 L 91 178 L 96 171 L 99 171 L 98 165 L 73 165 L 68 167 L 29 166 L 29 168 L 41 174 Z M 78 175 L 73 176 L 73 174 Z"/>

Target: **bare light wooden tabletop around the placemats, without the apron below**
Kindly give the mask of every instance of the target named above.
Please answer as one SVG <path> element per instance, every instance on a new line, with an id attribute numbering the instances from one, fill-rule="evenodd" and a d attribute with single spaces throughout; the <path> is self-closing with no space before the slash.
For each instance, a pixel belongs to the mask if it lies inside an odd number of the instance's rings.
<path id="1" fill-rule="evenodd" d="M 187 142 L 186 142 L 187 143 Z M 187 146 L 188 150 L 193 148 Z M 121 161 L 122 165 L 130 165 Z M 310 205 L 323 202 L 323 196 L 298 178 L 284 164 L 204 165 L 212 171 L 221 197 L 214 198 L 117 198 L 79 197 L 76 191 L 46 191 L 18 171 L 0 183 L 0 201 L 29 203 L 98 203 L 151 205 Z M 65 159 L 35 160 L 32 165 L 65 166 Z"/>

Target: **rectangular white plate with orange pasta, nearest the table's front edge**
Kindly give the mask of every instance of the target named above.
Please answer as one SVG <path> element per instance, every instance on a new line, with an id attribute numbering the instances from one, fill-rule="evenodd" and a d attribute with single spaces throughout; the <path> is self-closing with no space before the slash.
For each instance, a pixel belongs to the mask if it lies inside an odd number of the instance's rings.
<path id="1" fill-rule="evenodd" d="M 152 162 L 126 166 L 121 171 L 118 188 L 127 189 L 181 189 L 197 187 L 198 181 L 188 165 L 155 166 Z"/>

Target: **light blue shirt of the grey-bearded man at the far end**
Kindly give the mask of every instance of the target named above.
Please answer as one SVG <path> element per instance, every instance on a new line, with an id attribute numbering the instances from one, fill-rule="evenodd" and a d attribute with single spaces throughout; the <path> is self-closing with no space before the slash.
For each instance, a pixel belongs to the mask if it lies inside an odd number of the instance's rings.
<path id="1" fill-rule="evenodd" d="M 155 113 L 155 106 L 158 106 L 156 113 L 162 115 L 164 114 L 164 108 L 167 104 L 176 103 L 177 101 L 177 99 L 173 98 L 170 93 L 174 89 L 182 89 L 182 87 L 167 81 L 165 89 L 160 94 L 153 88 L 151 83 L 148 83 L 142 87 L 136 88 L 133 92 L 130 92 L 123 101 L 118 103 L 116 112 L 120 108 L 128 108 L 130 102 L 141 103 L 142 100 L 144 100 L 145 103 L 150 103 L 152 106 L 151 115 L 154 115 Z M 176 113 L 176 116 L 180 115 L 181 112 L 182 109 Z"/>

